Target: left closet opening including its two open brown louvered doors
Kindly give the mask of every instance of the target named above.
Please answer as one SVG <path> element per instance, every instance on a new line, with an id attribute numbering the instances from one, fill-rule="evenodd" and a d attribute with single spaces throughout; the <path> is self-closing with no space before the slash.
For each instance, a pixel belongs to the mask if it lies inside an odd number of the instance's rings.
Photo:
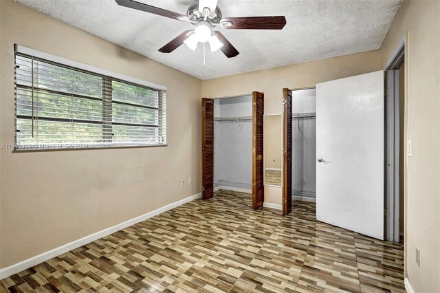
<path id="1" fill-rule="evenodd" d="M 202 199 L 225 189 L 252 193 L 263 206 L 264 96 L 202 99 Z"/>

